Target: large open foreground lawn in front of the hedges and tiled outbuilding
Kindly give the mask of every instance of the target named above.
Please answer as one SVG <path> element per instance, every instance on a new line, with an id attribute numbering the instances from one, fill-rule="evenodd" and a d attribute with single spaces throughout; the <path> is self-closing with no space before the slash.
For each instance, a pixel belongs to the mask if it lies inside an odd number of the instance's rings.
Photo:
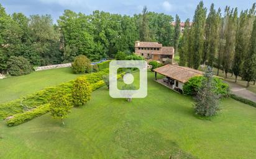
<path id="1" fill-rule="evenodd" d="M 199 119 L 190 97 L 153 78 L 148 96 L 131 103 L 94 91 L 65 126 L 50 114 L 15 127 L 1 121 L 1 158 L 255 158 L 254 107 L 229 98 L 215 118 Z"/>

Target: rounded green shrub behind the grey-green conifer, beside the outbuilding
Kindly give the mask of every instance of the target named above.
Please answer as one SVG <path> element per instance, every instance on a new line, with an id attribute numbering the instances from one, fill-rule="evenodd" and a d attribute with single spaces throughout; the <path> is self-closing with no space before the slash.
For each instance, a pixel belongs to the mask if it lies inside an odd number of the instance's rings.
<path id="1" fill-rule="evenodd" d="M 203 80 L 203 76 L 192 77 L 188 82 L 183 85 L 183 93 L 185 95 L 196 95 L 196 92 Z M 222 82 L 221 79 L 214 77 L 214 92 L 222 97 L 227 97 L 229 95 L 229 85 Z"/>

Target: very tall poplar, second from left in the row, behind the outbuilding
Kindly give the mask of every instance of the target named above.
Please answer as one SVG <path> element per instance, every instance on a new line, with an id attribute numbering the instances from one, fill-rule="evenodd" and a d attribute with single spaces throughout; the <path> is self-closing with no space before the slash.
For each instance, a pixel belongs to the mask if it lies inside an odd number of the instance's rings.
<path id="1" fill-rule="evenodd" d="M 193 18 L 192 27 L 192 49 L 193 53 L 193 68 L 198 69 L 203 55 L 204 46 L 204 25 L 206 21 L 206 8 L 204 7 L 203 1 L 200 1 L 196 7 Z"/>

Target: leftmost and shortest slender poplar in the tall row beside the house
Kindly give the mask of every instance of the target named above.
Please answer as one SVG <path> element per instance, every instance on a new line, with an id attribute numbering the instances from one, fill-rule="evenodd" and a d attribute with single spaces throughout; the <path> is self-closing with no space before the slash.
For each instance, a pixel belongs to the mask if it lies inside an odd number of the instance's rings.
<path id="1" fill-rule="evenodd" d="M 190 19 L 186 19 L 185 21 L 185 28 L 183 31 L 183 37 L 182 37 L 182 46 L 181 46 L 181 51 L 180 51 L 180 66 L 186 66 L 186 61 L 188 57 L 188 52 L 190 51 L 189 45 L 189 37 L 190 36 Z"/>

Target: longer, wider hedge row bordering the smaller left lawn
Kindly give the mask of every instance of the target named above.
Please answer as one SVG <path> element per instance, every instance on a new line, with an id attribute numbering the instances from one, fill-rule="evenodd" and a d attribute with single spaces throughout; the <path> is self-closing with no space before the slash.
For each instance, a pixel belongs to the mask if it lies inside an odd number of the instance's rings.
<path id="1" fill-rule="evenodd" d="M 103 71 L 83 75 L 83 77 L 85 77 L 90 84 L 95 84 L 99 80 L 102 80 L 103 75 L 108 73 L 108 69 L 104 69 Z M 9 116 L 13 116 L 14 114 L 24 113 L 25 111 L 33 110 L 40 105 L 47 104 L 53 93 L 60 90 L 66 93 L 70 93 L 73 82 L 74 80 L 70 80 L 70 82 L 66 82 L 55 87 L 48 87 L 38 92 L 32 93 L 31 95 L 26 95 L 20 99 L 3 103 L 0 105 L 0 118 L 4 119 Z"/>

